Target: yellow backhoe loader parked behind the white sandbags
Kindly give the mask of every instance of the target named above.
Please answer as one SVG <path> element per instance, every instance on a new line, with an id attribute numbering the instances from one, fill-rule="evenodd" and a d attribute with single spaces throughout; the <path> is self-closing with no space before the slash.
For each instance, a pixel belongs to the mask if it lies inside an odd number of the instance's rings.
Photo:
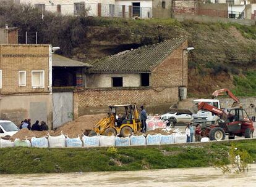
<path id="1" fill-rule="evenodd" d="M 122 137 L 129 137 L 132 132 L 136 133 L 140 129 L 139 111 L 135 104 L 109 106 L 108 116 L 94 127 L 95 132 L 101 135 L 118 134 Z"/>

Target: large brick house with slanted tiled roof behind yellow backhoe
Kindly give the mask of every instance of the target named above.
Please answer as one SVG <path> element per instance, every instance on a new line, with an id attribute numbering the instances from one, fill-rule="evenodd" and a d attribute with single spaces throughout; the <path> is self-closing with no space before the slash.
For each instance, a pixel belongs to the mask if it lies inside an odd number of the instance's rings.
<path id="1" fill-rule="evenodd" d="M 187 38 L 128 50 L 90 62 L 87 87 L 74 92 L 74 117 L 105 112 L 109 105 L 137 103 L 160 113 L 187 88 Z"/>

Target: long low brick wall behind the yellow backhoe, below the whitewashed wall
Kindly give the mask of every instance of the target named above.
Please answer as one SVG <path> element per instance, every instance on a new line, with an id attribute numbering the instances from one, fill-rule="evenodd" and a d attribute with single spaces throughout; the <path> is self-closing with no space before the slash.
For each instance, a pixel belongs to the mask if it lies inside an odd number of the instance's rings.
<path id="1" fill-rule="evenodd" d="M 84 89 L 74 92 L 74 118 L 83 114 L 104 113 L 109 105 L 133 103 L 145 105 L 148 113 L 160 113 L 167 111 L 179 99 L 178 94 L 178 87 Z"/>

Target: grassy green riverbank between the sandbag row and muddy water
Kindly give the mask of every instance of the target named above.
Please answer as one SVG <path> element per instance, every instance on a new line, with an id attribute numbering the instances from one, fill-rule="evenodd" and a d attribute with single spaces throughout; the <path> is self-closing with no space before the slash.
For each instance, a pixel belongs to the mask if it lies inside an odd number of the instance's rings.
<path id="1" fill-rule="evenodd" d="M 64 173 L 208 167 L 229 164 L 231 144 L 256 161 L 256 140 L 109 148 L 1 148 L 0 173 Z"/>

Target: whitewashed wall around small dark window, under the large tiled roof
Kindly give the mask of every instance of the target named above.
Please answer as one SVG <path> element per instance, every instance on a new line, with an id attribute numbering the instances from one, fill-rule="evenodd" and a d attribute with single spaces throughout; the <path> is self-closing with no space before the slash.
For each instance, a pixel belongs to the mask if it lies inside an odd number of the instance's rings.
<path id="1" fill-rule="evenodd" d="M 94 73 L 87 75 L 87 87 L 112 87 L 113 77 L 122 77 L 124 87 L 140 86 L 140 73 Z"/>

